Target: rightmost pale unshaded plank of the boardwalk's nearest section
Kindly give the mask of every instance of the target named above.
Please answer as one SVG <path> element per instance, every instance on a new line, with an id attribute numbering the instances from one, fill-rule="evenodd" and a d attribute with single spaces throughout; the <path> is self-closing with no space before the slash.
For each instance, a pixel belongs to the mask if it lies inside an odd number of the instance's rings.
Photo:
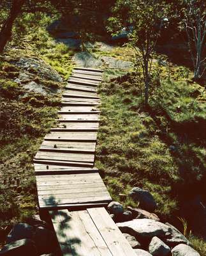
<path id="1" fill-rule="evenodd" d="M 136 255 L 105 208 L 91 208 L 87 211 L 113 256 Z"/>

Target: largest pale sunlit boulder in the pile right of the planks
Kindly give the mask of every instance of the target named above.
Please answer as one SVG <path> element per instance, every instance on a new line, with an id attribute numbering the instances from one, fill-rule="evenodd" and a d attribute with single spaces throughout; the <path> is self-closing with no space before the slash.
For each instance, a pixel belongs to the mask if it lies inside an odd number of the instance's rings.
<path id="1" fill-rule="evenodd" d="M 157 236 L 166 244 L 170 245 L 175 241 L 175 234 L 173 228 L 168 225 L 155 220 L 149 219 L 135 219 L 131 221 L 117 223 L 117 226 L 123 233 L 128 233 L 135 236 L 141 244 L 148 245 L 152 237 Z M 183 236 L 183 235 L 182 235 Z M 178 237 L 177 243 L 186 243 L 186 237 Z"/>

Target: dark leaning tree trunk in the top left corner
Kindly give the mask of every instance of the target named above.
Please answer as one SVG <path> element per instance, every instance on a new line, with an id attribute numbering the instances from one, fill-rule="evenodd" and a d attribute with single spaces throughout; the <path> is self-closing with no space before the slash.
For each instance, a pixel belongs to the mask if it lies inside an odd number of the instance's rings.
<path id="1" fill-rule="evenodd" d="M 0 53 L 4 51 L 6 43 L 11 39 L 13 22 L 15 22 L 25 2 L 26 0 L 12 1 L 8 19 L 4 22 L 3 28 L 0 31 Z"/>

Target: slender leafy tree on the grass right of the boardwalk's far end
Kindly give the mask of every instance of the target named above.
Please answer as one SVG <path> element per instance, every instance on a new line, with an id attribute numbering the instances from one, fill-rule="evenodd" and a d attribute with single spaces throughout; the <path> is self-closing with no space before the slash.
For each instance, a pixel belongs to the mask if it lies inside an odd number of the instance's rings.
<path id="1" fill-rule="evenodd" d="M 148 104 L 154 47 L 167 18 L 161 0 L 117 0 L 109 19 L 109 30 L 122 33 L 130 27 L 129 45 L 135 49 L 136 61 L 143 71 L 145 105 Z"/>

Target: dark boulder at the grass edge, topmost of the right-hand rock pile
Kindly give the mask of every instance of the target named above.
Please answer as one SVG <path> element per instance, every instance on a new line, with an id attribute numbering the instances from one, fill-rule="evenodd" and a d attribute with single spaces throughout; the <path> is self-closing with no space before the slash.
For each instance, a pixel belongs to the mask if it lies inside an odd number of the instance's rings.
<path id="1" fill-rule="evenodd" d="M 129 192 L 129 196 L 133 198 L 133 200 L 140 202 L 140 207 L 142 207 L 146 211 L 154 211 L 157 207 L 156 202 L 149 193 L 149 191 L 135 187 L 131 189 Z"/>

